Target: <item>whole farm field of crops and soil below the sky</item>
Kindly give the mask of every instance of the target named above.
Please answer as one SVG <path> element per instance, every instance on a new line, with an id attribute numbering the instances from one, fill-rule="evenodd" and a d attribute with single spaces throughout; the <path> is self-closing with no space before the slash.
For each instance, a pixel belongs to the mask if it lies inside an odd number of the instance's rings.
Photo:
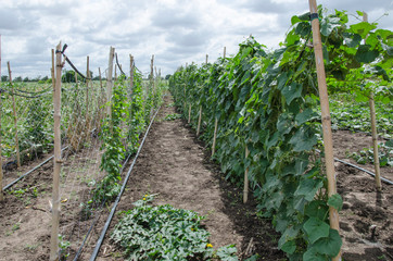
<path id="1" fill-rule="evenodd" d="M 0 260 L 393 260 L 393 35 L 321 17 L 326 90 L 291 23 L 168 80 L 2 83 Z"/>

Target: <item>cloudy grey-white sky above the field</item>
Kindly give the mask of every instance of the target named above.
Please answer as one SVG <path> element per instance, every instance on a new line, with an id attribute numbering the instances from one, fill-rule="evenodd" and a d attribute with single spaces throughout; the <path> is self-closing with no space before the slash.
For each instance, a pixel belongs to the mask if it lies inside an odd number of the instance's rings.
<path id="1" fill-rule="evenodd" d="M 380 27 L 393 30 L 392 0 L 317 3 L 354 15 L 366 11 L 370 22 L 382 16 Z M 10 61 L 13 77 L 49 75 L 59 41 L 68 45 L 66 54 L 83 72 L 87 55 L 94 75 L 106 69 L 113 46 L 123 67 L 132 54 L 147 73 L 155 54 L 162 75 L 172 74 L 186 62 L 204 62 L 206 53 L 215 61 L 224 47 L 234 54 L 250 34 L 277 48 L 291 16 L 306 11 L 307 0 L 0 0 L 1 74 Z"/>

